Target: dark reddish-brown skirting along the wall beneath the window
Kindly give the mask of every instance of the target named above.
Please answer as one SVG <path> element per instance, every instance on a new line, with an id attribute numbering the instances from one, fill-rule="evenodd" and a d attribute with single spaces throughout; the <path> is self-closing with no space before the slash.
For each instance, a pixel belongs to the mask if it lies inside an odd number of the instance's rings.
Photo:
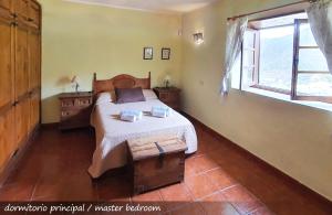
<path id="1" fill-rule="evenodd" d="M 185 117 L 187 117 L 190 121 L 195 122 L 196 125 L 198 125 L 199 127 L 201 127 L 204 130 L 206 130 L 208 133 L 210 133 L 211 136 L 214 136 L 215 138 L 217 138 L 218 140 L 222 141 L 222 142 L 226 142 L 226 141 L 229 142 L 229 147 L 235 148 L 237 151 L 239 151 L 241 153 L 241 155 L 247 157 L 247 158 L 253 160 L 255 162 L 259 163 L 259 165 L 261 165 L 262 168 L 264 168 L 264 170 L 267 170 L 270 173 L 272 173 L 273 175 L 276 175 L 276 178 L 280 178 L 280 179 L 287 181 L 292 187 L 294 187 L 295 190 L 300 191 L 304 195 L 305 194 L 312 195 L 315 198 L 320 200 L 321 202 L 325 203 L 326 205 L 331 205 L 331 207 L 332 207 L 332 201 L 328 200 L 325 196 L 323 196 L 323 195 L 319 194 L 318 192 L 311 190 L 310 187 L 305 186 L 301 182 L 299 182 L 295 179 L 291 178 L 290 175 L 286 174 L 281 170 L 274 168 L 270 163 L 268 163 L 264 160 L 258 158 L 257 155 L 255 155 L 251 152 L 249 152 L 248 150 L 241 148 L 237 143 L 230 141 L 229 139 L 227 139 L 226 137 L 221 136 L 220 133 L 218 133 L 214 129 L 211 129 L 208 126 L 206 126 L 205 123 L 200 122 L 195 117 L 193 117 L 193 116 L 190 116 L 190 115 L 188 115 L 188 114 L 186 114 L 184 111 L 181 114 Z"/>

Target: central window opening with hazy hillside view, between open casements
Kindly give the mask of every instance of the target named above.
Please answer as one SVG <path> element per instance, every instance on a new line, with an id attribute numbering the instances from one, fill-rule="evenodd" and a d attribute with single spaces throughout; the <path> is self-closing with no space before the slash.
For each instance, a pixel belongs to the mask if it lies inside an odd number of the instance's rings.
<path id="1" fill-rule="evenodd" d="M 291 89 L 293 33 L 293 26 L 260 31 L 260 85 Z"/>

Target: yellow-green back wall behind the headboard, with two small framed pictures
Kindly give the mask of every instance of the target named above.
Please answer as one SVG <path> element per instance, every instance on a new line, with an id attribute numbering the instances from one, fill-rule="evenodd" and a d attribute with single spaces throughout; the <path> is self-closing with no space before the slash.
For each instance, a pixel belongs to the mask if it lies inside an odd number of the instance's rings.
<path id="1" fill-rule="evenodd" d="M 126 73 L 147 77 L 153 86 L 170 74 L 179 82 L 180 15 L 121 10 L 107 7 L 43 0 L 42 10 L 42 122 L 59 121 L 58 95 L 72 92 L 77 75 L 81 90 L 91 90 L 93 73 L 111 78 Z M 154 47 L 154 60 L 143 61 L 143 47 Z M 170 47 L 170 61 L 160 60 Z"/>

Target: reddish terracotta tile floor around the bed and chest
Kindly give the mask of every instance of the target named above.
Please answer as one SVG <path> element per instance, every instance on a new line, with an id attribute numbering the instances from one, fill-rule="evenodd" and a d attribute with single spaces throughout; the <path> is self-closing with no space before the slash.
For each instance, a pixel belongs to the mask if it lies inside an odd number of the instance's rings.
<path id="1" fill-rule="evenodd" d="M 167 214 L 332 214 L 331 204 L 303 192 L 196 125 L 198 152 L 186 160 L 185 182 L 131 197 L 125 172 L 92 181 L 90 130 L 43 128 L 0 190 L 0 201 L 155 201 Z M 176 202 L 176 203 L 170 203 Z"/>

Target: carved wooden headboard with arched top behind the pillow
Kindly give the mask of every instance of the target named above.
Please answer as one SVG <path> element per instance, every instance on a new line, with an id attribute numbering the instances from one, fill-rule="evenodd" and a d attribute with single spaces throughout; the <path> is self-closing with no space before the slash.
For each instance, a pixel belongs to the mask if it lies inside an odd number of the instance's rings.
<path id="1" fill-rule="evenodd" d="M 97 95 L 103 92 L 111 92 L 115 88 L 134 88 L 142 87 L 143 89 L 151 88 L 151 72 L 147 78 L 136 78 L 131 75 L 117 75 L 111 79 L 96 79 L 96 73 L 93 74 L 93 94 Z"/>

